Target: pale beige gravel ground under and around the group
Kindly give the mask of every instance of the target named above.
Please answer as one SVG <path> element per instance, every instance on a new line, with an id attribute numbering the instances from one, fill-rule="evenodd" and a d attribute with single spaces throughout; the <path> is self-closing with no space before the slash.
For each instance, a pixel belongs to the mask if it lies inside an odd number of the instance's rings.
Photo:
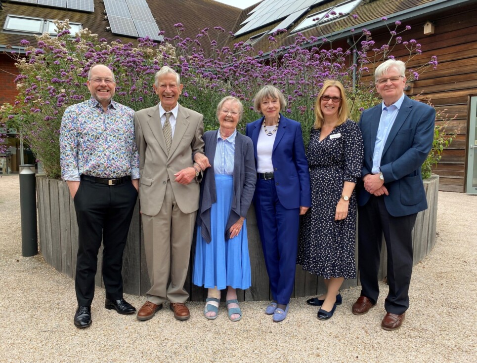
<path id="1" fill-rule="evenodd" d="M 244 316 L 232 323 L 223 305 L 209 321 L 196 302 L 188 303 L 189 321 L 176 321 L 166 306 L 138 322 L 104 309 L 99 287 L 93 323 L 80 330 L 73 280 L 41 254 L 21 256 L 18 176 L 0 176 L 0 362 L 476 362 L 468 305 L 477 300 L 476 216 L 476 197 L 439 192 L 437 242 L 414 268 L 411 306 L 396 331 L 381 329 L 386 293 L 368 314 L 351 314 L 359 288 L 342 292 L 329 321 L 319 321 L 304 297 L 292 299 L 282 323 L 273 323 L 260 301 L 241 303 Z M 136 308 L 144 302 L 125 298 Z"/>

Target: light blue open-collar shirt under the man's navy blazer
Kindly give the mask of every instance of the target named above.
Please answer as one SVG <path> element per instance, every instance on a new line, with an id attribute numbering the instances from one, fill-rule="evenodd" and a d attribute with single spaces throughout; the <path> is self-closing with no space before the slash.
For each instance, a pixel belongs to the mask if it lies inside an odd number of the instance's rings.
<path id="1" fill-rule="evenodd" d="M 392 105 L 386 106 L 384 102 L 381 104 L 381 119 L 379 120 L 378 133 L 376 134 L 376 143 L 374 144 L 373 154 L 373 168 L 371 172 L 378 174 L 381 169 L 381 158 L 383 157 L 384 146 L 386 140 L 388 140 L 391 127 L 396 120 L 399 109 L 401 108 L 402 101 L 404 101 L 404 93 L 402 96 Z"/>

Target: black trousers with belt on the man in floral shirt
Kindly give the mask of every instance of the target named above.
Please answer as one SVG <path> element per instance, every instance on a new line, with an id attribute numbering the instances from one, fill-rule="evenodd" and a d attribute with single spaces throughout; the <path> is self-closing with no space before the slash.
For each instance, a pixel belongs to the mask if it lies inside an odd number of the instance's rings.
<path id="1" fill-rule="evenodd" d="M 123 251 L 136 199 L 130 180 L 112 186 L 81 180 L 74 199 L 79 232 L 75 277 L 78 305 L 90 306 L 93 300 L 101 240 L 106 298 L 123 297 Z"/>

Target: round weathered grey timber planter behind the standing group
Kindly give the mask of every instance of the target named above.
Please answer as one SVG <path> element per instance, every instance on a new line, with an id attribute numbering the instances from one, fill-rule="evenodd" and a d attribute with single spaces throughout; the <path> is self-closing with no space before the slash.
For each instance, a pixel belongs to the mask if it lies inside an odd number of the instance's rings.
<path id="1" fill-rule="evenodd" d="M 438 185 L 439 177 L 437 175 L 433 175 L 430 179 L 424 181 L 429 208 L 418 214 L 413 230 L 414 265 L 430 253 L 434 247 Z M 40 249 L 43 257 L 56 270 L 74 278 L 78 249 L 78 224 L 68 186 L 62 180 L 47 179 L 46 177 L 39 176 L 37 177 L 37 198 Z M 239 300 L 269 300 L 268 276 L 265 270 L 253 207 L 247 216 L 247 230 L 252 267 L 252 287 L 245 291 L 237 291 L 237 295 Z M 195 249 L 194 244 L 192 246 L 192 256 Z M 103 286 L 101 253 L 100 251 L 98 256 L 97 286 Z M 386 277 L 387 267 L 386 246 L 383 248 L 381 260 L 380 278 L 383 279 Z M 194 301 L 205 300 L 207 292 L 202 287 L 192 284 L 191 271 L 192 266 L 190 265 L 186 281 L 186 288 L 190 292 L 190 299 Z M 124 251 L 123 280 L 125 293 L 144 295 L 150 287 L 144 254 L 144 238 L 139 214 L 139 202 L 135 207 L 128 242 Z M 346 280 L 343 288 L 357 286 L 358 284 L 358 279 Z M 317 295 L 324 290 L 323 279 L 311 275 L 303 271 L 301 266 L 297 266 L 293 297 Z"/>

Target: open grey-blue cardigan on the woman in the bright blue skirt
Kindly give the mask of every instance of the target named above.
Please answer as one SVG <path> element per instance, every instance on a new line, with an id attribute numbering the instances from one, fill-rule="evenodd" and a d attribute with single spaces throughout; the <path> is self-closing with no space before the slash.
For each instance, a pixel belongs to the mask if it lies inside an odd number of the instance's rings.
<path id="1" fill-rule="evenodd" d="M 212 165 L 204 171 L 200 185 L 200 206 L 197 215 L 197 225 L 201 226 L 201 235 L 206 242 L 212 241 L 211 234 L 211 207 L 217 202 L 216 180 L 214 173 L 214 158 L 217 148 L 217 132 L 207 131 L 203 139 L 205 143 L 205 156 Z M 225 227 L 225 241 L 230 238 L 230 227 L 246 217 L 257 182 L 255 169 L 254 145 L 252 139 L 237 132 L 235 137 L 235 155 L 233 166 L 233 199 L 232 209 Z"/>

